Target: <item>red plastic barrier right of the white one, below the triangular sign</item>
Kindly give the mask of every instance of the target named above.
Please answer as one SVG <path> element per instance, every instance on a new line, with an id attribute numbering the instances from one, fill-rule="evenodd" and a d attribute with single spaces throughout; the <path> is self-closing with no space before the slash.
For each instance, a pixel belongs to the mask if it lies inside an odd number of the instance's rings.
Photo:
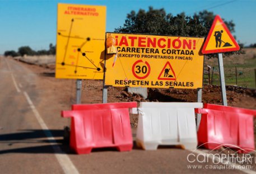
<path id="1" fill-rule="evenodd" d="M 198 144 L 208 149 L 218 149 L 222 145 L 240 152 L 254 150 L 253 115 L 256 110 L 238 107 L 205 104 L 196 109 L 202 114 L 197 137 Z"/>

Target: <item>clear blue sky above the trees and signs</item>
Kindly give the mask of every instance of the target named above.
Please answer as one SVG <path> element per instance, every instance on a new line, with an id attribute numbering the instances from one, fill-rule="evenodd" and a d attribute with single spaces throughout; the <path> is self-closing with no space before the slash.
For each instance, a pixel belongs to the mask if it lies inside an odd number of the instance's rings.
<path id="1" fill-rule="evenodd" d="M 57 4 L 89 4 L 106 6 L 106 31 L 113 32 L 123 26 L 132 10 L 164 8 L 166 13 L 177 15 L 185 12 L 192 16 L 203 10 L 220 15 L 235 23 L 233 33 L 240 43 L 256 43 L 256 0 L 101 0 L 101 1 L 54 1 L 54 0 L 0 0 L 0 54 L 6 50 L 17 51 L 20 46 L 33 50 L 49 49 L 56 43 Z"/>

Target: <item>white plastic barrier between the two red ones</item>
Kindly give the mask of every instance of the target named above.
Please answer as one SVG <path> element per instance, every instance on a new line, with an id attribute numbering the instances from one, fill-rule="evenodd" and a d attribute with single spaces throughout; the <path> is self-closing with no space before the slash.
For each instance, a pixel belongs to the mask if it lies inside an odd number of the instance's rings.
<path id="1" fill-rule="evenodd" d="M 202 103 L 141 102 L 138 107 L 136 143 L 145 150 L 156 150 L 158 145 L 183 145 L 197 148 L 195 108 Z M 133 114 L 136 114 L 133 109 Z"/>

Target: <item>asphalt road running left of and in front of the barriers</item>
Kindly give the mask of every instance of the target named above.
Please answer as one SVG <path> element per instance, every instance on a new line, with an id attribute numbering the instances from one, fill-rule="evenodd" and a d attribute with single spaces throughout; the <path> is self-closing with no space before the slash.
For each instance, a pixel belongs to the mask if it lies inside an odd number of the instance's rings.
<path id="1" fill-rule="evenodd" d="M 24 63 L 0 57 L 0 79 L 0 173 L 252 173 L 207 169 L 206 163 L 189 169 L 202 163 L 189 163 L 192 152 L 175 147 L 77 155 L 63 142 L 68 121 L 60 117 L 63 104 L 55 89 L 41 87 L 45 78 Z"/>

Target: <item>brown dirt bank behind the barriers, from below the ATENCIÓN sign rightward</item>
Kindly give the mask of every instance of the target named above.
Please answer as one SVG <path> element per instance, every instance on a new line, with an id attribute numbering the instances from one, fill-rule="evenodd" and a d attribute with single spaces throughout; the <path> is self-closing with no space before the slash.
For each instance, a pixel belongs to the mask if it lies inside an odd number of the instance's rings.
<path id="1" fill-rule="evenodd" d="M 146 98 L 146 100 L 140 95 L 127 92 L 125 89 L 117 90 L 115 87 L 110 87 L 109 92 L 115 95 L 115 98 L 111 97 L 112 102 L 117 102 L 117 99 L 120 102 L 197 102 L 197 90 L 148 88 L 148 98 Z M 237 86 L 226 86 L 226 93 L 229 106 L 244 106 L 249 109 L 256 108 L 256 90 Z M 204 86 L 202 101 L 203 103 L 209 104 L 222 104 L 221 87 L 211 85 Z M 246 102 L 251 103 L 249 105 L 245 105 Z"/>

